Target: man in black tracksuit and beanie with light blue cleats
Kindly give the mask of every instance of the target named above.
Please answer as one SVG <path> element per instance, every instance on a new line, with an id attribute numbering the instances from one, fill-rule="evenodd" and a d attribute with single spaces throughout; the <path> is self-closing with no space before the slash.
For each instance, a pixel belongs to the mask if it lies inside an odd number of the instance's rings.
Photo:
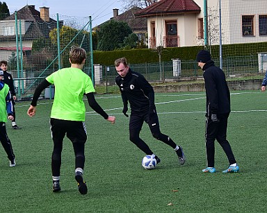
<path id="1" fill-rule="evenodd" d="M 222 146 L 223 151 L 229 160 L 229 167 L 223 173 L 237 172 L 239 170 L 232 148 L 226 139 L 227 135 L 227 119 L 230 114 L 230 92 L 225 80 L 225 74 L 222 69 L 214 65 L 211 60 L 209 51 L 200 51 L 197 54 L 198 66 L 202 68 L 207 105 L 206 105 L 206 149 L 208 167 L 203 169 L 203 172 L 213 173 L 215 139 Z"/>

